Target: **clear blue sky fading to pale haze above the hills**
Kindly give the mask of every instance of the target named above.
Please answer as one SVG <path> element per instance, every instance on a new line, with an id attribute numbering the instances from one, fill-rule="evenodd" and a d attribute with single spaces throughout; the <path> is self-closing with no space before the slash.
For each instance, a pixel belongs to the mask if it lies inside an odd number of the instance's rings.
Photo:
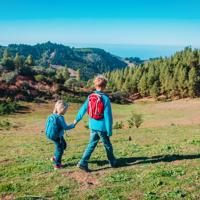
<path id="1" fill-rule="evenodd" d="M 0 44 L 200 46 L 200 0 L 4 0 Z"/>

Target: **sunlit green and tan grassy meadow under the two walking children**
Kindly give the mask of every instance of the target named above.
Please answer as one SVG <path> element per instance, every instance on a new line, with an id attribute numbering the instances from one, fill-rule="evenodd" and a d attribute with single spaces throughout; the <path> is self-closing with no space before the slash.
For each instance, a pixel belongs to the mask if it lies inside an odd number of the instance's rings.
<path id="1" fill-rule="evenodd" d="M 67 133 L 68 148 L 54 171 L 49 158 L 53 144 L 44 123 L 53 104 L 26 103 L 21 114 L 0 116 L 9 128 L 0 130 L 0 198 L 2 199 L 199 199 L 200 100 L 168 103 L 114 104 L 114 121 L 123 121 L 111 138 L 120 167 L 109 167 L 102 143 L 93 153 L 90 174 L 76 164 L 87 145 L 84 120 Z M 72 104 L 72 122 L 80 105 Z M 140 128 L 128 129 L 131 112 L 143 115 Z"/>

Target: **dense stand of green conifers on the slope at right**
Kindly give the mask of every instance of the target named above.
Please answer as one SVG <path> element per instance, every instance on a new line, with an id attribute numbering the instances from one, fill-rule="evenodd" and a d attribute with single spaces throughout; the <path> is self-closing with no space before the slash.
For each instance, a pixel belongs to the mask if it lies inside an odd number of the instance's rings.
<path id="1" fill-rule="evenodd" d="M 109 89 L 124 95 L 184 98 L 200 96 L 200 50 L 186 47 L 171 57 L 105 73 Z"/>

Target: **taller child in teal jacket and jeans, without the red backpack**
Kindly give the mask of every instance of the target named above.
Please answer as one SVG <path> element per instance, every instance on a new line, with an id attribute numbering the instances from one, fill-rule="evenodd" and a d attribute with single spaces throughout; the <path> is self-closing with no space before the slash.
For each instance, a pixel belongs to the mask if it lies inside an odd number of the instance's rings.
<path id="1" fill-rule="evenodd" d="M 88 160 L 92 152 L 94 151 L 97 143 L 99 142 L 100 138 L 104 144 L 110 165 L 112 167 L 116 166 L 116 159 L 114 157 L 113 147 L 110 142 L 110 136 L 112 136 L 112 123 L 113 123 L 112 109 L 108 96 L 106 96 L 103 93 L 103 90 L 106 88 L 106 84 L 107 80 L 103 76 L 97 76 L 94 80 L 94 86 L 96 88 L 96 91 L 94 93 L 101 95 L 104 104 L 104 112 L 102 119 L 96 120 L 89 116 L 90 141 L 82 156 L 82 159 L 77 165 L 80 169 L 87 172 L 90 171 L 88 169 Z M 76 116 L 75 123 L 78 123 L 85 115 L 88 109 L 88 102 L 89 100 L 87 98 L 87 100 L 82 105 L 81 109 L 79 110 Z"/>

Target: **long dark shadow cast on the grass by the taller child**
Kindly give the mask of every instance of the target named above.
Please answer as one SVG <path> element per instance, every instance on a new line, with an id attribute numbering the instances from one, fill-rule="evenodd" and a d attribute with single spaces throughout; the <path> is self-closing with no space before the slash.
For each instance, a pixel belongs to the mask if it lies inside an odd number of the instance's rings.
<path id="1" fill-rule="evenodd" d="M 128 158 L 118 158 L 117 159 L 117 167 L 127 167 L 131 165 L 139 165 L 139 164 L 154 164 L 159 162 L 173 162 L 173 161 L 180 161 L 180 160 L 192 160 L 192 159 L 199 159 L 200 154 L 194 155 L 158 155 L 152 157 L 128 157 Z M 107 160 L 93 160 L 90 163 L 96 163 L 98 166 L 104 166 L 108 164 Z M 104 170 L 105 168 L 93 170 L 93 171 L 100 171 Z"/>

